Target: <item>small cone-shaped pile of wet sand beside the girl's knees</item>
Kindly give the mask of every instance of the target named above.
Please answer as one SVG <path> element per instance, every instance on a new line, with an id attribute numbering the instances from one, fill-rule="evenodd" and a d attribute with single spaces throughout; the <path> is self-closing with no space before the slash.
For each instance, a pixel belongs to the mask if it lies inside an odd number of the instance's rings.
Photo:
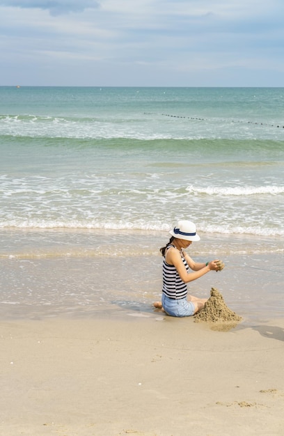
<path id="1" fill-rule="evenodd" d="M 223 296 L 216 288 L 211 289 L 211 296 L 205 303 L 204 308 L 196 313 L 194 321 L 205 322 L 229 322 L 237 324 L 242 320 L 242 317 L 231 311 L 224 302 Z"/>

